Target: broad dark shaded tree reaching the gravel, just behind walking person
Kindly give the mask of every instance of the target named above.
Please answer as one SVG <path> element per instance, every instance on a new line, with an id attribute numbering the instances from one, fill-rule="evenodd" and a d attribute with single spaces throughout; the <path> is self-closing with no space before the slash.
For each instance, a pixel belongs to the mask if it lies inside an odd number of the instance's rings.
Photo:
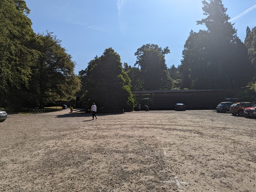
<path id="1" fill-rule="evenodd" d="M 85 71 L 79 72 L 84 79 L 83 88 L 87 88 L 87 95 L 83 102 L 95 102 L 105 110 L 130 110 L 134 107 L 131 93 L 131 80 L 123 71 L 120 56 L 113 48 L 105 49 L 100 57 L 95 57 L 88 64 Z M 85 90 L 84 90 L 85 93 Z"/>

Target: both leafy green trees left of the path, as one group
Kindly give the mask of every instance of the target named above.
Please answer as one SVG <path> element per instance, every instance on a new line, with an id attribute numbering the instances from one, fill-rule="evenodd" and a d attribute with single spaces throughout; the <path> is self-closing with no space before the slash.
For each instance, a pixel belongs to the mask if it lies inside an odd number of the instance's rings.
<path id="1" fill-rule="evenodd" d="M 0 0 L 0 107 L 44 107 L 80 89 L 71 55 L 52 33 L 35 34 L 23 0 Z"/>

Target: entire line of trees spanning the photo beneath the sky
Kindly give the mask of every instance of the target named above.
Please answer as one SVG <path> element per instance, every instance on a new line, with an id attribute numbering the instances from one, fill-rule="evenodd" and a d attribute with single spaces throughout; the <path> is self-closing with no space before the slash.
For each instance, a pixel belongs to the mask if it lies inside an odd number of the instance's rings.
<path id="1" fill-rule="evenodd" d="M 134 66 L 122 65 L 113 48 L 92 59 L 77 76 L 72 56 L 51 32 L 35 34 L 23 0 L 0 0 L 0 107 L 44 107 L 82 95 L 108 110 L 134 107 L 131 90 L 226 89 L 256 98 L 256 27 L 242 42 L 221 0 L 203 0 L 206 30 L 190 31 L 181 64 L 167 68 L 168 47 L 146 44 Z M 170 42 L 171 43 L 171 42 Z"/>

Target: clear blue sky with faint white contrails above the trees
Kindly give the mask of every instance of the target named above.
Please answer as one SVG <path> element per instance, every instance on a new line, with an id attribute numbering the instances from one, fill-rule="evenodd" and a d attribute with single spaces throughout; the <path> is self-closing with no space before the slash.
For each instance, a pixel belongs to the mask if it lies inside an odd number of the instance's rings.
<path id="1" fill-rule="evenodd" d="M 75 73 L 112 47 L 121 62 L 134 66 L 134 53 L 147 43 L 170 49 L 166 65 L 180 65 L 191 30 L 205 18 L 201 0 L 25 0 L 35 33 L 53 32 L 76 62 Z M 256 26 L 256 0 L 222 0 L 244 41 Z"/>

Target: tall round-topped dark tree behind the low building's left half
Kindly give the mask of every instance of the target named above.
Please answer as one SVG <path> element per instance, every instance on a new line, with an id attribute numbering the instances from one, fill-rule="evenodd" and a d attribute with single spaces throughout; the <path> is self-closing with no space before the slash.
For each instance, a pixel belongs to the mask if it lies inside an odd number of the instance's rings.
<path id="1" fill-rule="evenodd" d="M 137 49 L 135 65 L 140 66 L 144 80 L 144 90 L 164 90 L 172 88 L 172 79 L 167 71 L 165 54 L 170 53 L 168 47 L 162 49 L 158 45 L 146 44 Z"/>

